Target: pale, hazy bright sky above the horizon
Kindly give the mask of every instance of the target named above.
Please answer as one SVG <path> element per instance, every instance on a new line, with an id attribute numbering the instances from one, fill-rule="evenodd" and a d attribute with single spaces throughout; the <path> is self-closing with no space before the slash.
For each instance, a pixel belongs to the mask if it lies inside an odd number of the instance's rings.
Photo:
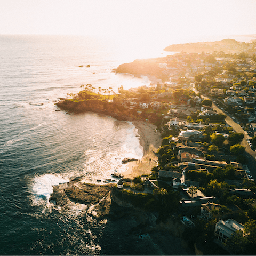
<path id="1" fill-rule="evenodd" d="M 0 34 L 140 42 L 256 35 L 256 0 L 0 0 L 0 10 Z"/>

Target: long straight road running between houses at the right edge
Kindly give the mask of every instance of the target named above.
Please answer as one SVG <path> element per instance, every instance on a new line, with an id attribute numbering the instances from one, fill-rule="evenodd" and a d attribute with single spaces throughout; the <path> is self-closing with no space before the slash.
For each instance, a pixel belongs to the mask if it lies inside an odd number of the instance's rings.
<path id="1" fill-rule="evenodd" d="M 206 97 L 205 95 L 201 95 L 201 97 L 203 99 L 212 100 L 212 99 Z M 246 139 L 251 139 L 252 137 L 250 137 L 247 134 L 247 132 L 245 132 L 242 129 L 242 127 L 238 123 L 235 122 L 236 119 L 231 118 L 230 114 L 221 110 L 214 102 L 212 102 L 212 108 L 213 108 L 213 110 L 216 110 L 217 113 L 227 116 L 225 121 L 229 126 L 231 126 L 234 129 L 235 132 L 244 134 L 244 139 L 241 142 L 241 145 L 245 147 L 245 155 L 246 155 L 246 158 L 248 159 L 247 166 L 248 166 L 248 168 L 251 172 L 251 175 L 252 175 L 253 179 L 256 180 L 256 161 L 255 161 L 256 152 L 253 149 L 251 149 L 251 147 L 249 146 L 249 144 L 246 140 Z"/>

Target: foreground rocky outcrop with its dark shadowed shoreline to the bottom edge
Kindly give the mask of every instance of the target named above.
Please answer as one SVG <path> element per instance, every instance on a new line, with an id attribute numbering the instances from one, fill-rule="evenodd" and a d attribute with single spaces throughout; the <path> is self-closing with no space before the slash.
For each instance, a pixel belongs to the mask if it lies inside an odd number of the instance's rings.
<path id="1" fill-rule="evenodd" d="M 118 198 L 114 184 L 83 183 L 82 178 L 77 177 L 53 187 L 50 201 L 55 203 L 55 207 L 65 209 L 72 203 L 85 204 L 86 215 L 91 215 L 99 222 L 110 221 L 109 225 L 114 225 L 115 228 L 122 223 L 125 237 L 129 236 L 131 241 L 146 239 L 145 242 L 152 247 L 154 255 L 195 255 L 181 238 L 184 231 L 181 222 L 175 219 L 159 222 L 154 213 Z"/>

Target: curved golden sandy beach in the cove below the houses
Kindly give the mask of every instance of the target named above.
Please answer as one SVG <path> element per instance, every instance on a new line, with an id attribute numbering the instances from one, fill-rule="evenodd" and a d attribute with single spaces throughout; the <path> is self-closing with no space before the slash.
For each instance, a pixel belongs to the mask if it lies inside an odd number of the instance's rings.
<path id="1" fill-rule="evenodd" d="M 124 178 L 134 178 L 143 174 L 150 174 L 151 169 L 158 165 L 156 152 L 161 146 L 162 137 L 156 132 L 156 126 L 144 121 L 132 121 L 140 135 L 140 145 L 144 149 L 143 157 L 139 161 L 130 162 L 128 170 L 123 173 Z"/>

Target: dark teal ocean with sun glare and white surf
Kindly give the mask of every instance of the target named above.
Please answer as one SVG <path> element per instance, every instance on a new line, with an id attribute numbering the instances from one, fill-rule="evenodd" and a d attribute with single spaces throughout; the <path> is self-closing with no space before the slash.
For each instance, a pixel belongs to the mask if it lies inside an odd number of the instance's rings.
<path id="1" fill-rule="evenodd" d="M 126 170 L 122 159 L 143 155 L 132 123 L 56 111 L 58 98 L 78 93 L 82 84 L 116 92 L 121 85 L 149 85 L 147 77 L 112 69 L 164 55 L 162 49 L 104 38 L 0 35 L 0 255 L 154 252 L 154 244 L 123 234 L 132 219 L 118 225 L 99 222 L 84 213 L 82 204 L 62 210 L 49 198 L 54 185 L 81 175 L 93 183 L 111 178 L 115 170 Z"/>

